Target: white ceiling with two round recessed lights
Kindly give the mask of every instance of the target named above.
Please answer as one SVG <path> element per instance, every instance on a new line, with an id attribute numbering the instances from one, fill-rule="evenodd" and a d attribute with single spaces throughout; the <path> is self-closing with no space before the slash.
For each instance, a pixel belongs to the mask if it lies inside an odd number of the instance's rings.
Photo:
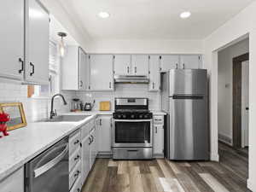
<path id="1" fill-rule="evenodd" d="M 254 0 L 59 0 L 96 39 L 201 39 Z M 182 20 L 181 12 L 192 15 Z M 108 19 L 97 14 L 107 11 Z"/>

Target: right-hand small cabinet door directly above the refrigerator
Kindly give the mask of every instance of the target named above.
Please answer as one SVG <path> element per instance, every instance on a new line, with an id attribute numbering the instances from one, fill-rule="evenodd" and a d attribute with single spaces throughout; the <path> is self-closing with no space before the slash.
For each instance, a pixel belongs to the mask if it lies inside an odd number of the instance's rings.
<path id="1" fill-rule="evenodd" d="M 197 69 L 201 67 L 201 55 L 181 55 L 180 68 Z"/>

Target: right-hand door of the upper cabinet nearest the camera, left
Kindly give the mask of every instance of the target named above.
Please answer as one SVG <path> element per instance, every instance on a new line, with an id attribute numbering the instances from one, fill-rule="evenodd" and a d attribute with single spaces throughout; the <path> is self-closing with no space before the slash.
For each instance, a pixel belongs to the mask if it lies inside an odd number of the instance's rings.
<path id="1" fill-rule="evenodd" d="M 49 83 L 49 13 L 37 0 L 28 0 L 26 80 Z"/>

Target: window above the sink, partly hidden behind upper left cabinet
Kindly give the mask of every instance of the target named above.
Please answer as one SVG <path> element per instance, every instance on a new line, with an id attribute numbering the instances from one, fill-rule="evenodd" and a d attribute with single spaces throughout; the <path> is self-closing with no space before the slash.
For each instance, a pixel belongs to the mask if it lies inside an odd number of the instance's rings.
<path id="1" fill-rule="evenodd" d="M 31 98 L 49 97 L 60 90 L 60 57 L 57 45 L 49 41 L 49 84 L 29 85 L 27 96 Z"/>

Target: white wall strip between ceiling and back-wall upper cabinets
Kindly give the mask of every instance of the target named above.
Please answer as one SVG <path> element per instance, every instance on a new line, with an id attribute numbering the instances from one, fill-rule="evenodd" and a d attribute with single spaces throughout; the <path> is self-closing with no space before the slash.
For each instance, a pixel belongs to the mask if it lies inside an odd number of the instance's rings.
<path id="1" fill-rule="evenodd" d="M 95 40 L 90 53 L 201 54 L 201 40 Z"/>

